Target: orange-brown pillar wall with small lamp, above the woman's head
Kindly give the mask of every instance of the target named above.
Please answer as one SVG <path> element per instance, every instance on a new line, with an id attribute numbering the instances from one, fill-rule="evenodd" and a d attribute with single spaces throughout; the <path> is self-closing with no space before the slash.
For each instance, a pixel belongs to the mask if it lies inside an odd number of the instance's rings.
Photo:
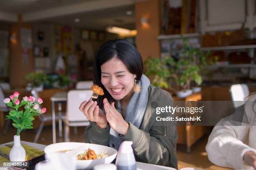
<path id="1" fill-rule="evenodd" d="M 148 56 L 160 57 L 160 0 L 148 0 L 135 3 L 136 45 L 143 60 Z M 141 25 L 141 18 L 147 18 L 148 24 Z"/>

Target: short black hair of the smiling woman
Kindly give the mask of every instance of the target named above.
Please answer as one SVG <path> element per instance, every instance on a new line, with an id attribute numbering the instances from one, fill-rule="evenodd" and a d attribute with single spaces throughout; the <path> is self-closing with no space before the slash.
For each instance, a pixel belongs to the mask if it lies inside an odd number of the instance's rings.
<path id="1" fill-rule="evenodd" d="M 94 60 L 93 83 L 99 85 L 104 90 L 104 95 L 99 96 L 97 101 L 100 107 L 103 106 L 103 99 L 106 97 L 109 102 L 115 100 L 101 83 L 100 66 L 112 58 L 121 60 L 129 72 L 136 75 L 137 81 L 141 80 L 143 73 L 143 60 L 136 47 L 131 42 L 122 39 L 108 40 L 104 42 L 96 52 Z"/>

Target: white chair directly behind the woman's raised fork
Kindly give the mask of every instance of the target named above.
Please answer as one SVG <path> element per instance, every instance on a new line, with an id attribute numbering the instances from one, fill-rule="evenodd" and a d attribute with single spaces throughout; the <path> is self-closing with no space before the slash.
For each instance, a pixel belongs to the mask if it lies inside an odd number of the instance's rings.
<path id="1" fill-rule="evenodd" d="M 67 113 L 65 127 L 65 141 L 69 141 L 69 126 L 88 126 L 90 123 L 79 110 L 80 104 L 84 100 L 89 100 L 92 90 L 70 90 L 67 94 Z"/>

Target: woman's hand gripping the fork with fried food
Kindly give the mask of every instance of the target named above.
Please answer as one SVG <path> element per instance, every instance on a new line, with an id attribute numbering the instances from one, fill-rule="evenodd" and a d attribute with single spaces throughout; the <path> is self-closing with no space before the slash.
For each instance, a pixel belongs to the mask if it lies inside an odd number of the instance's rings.
<path id="1" fill-rule="evenodd" d="M 79 110 L 84 113 L 87 120 L 90 120 L 91 122 L 96 122 L 99 128 L 107 128 L 108 121 L 102 110 L 97 105 L 97 101 L 91 101 L 89 103 L 87 103 L 87 101 L 84 101 L 81 103 Z"/>

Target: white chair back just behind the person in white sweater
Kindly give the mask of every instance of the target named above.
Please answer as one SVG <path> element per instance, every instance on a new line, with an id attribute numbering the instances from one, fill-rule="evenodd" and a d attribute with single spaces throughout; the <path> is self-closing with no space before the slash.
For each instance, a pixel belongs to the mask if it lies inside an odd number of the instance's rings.
<path id="1" fill-rule="evenodd" d="M 249 88 L 246 84 L 231 85 L 229 91 L 234 107 L 243 105 L 249 95 Z"/>

